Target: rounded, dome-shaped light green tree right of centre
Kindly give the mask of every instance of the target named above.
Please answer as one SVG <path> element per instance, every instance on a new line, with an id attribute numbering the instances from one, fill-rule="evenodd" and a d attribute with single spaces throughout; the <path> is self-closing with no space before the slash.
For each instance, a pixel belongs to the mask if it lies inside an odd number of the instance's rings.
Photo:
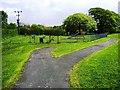
<path id="1" fill-rule="evenodd" d="M 66 33 L 75 34 L 82 29 L 86 32 L 93 32 L 96 29 L 96 22 L 88 15 L 83 13 L 75 13 L 68 16 L 64 22 L 63 27 Z"/>

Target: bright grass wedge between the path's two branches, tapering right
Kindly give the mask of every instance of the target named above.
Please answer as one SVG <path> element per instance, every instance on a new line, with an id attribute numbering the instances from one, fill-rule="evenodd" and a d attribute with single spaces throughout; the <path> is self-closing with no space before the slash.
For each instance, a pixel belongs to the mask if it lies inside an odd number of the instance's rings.
<path id="1" fill-rule="evenodd" d="M 63 55 L 75 52 L 77 50 L 105 42 L 111 38 L 118 38 L 118 34 L 109 35 L 107 38 L 101 38 L 91 42 L 78 41 L 78 43 L 69 43 L 69 44 L 63 43 L 58 45 L 57 48 L 55 48 L 52 51 L 52 55 L 53 57 L 58 58 Z"/>

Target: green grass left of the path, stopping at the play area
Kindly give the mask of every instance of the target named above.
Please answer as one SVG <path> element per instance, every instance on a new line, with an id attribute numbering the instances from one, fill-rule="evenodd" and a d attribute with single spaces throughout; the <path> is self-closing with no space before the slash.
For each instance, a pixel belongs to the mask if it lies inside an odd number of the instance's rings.
<path id="1" fill-rule="evenodd" d="M 25 38 L 29 39 L 23 36 L 16 36 L 10 38 L 13 40 L 12 43 L 9 43 L 8 39 L 3 43 L 3 87 L 10 87 L 20 77 L 21 70 L 33 50 L 48 47 L 43 44 L 27 43 L 26 41 L 28 40 L 25 41 Z"/>

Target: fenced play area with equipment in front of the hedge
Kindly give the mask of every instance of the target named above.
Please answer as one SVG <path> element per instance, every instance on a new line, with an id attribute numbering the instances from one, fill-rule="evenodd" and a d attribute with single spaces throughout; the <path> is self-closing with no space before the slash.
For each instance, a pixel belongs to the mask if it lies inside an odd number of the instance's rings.
<path id="1" fill-rule="evenodd" d="M 90 42 L 100 38 L 107 37 L 107 34 L 80 35 L 79 33 L 70 36 L 54 36 L 54 35 L 31 35 L 29 43 L 77 43 L 79 41 Z"/>

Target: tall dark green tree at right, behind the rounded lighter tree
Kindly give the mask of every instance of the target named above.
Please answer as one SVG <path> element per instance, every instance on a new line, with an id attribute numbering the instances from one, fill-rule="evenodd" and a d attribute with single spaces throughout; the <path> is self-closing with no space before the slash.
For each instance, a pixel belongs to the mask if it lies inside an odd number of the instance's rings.
<path id="1" fill-rule="evenodd" d="M 118 28 L 118 14 L 103 8 L 89 9 L 89 15 L 97 22 L 98 33 L 113 33 Z"/>

